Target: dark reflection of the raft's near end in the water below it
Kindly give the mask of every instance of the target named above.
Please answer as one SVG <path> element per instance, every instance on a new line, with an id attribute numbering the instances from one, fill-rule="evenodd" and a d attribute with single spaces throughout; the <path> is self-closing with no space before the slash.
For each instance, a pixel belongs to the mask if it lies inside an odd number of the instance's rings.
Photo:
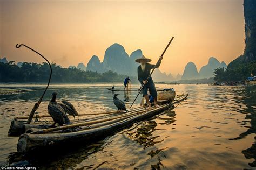
<path id="1" fill-rule="evenodd" d="M 88 155 L 102 150 L 103 145 L 104 141 L 97 141 L 97 143 L 89 143 L 86 147 L 83 147 L 83 145 L 72 145 L 69 147 L 63 146 L 59 148 L 52 148 L 53 150 L 39 150 L 30 154 L 19 154 L 14 152 L 10 153 L 8 156 L 8 162 L 9 164 L 16 165 L 17 162 L 29 160 L 28 164 L 30 166 L 36 165 L 41 168 L 72 167 L 80 164 Z M 35 155 L 37 155 L 36 159 Z"/>

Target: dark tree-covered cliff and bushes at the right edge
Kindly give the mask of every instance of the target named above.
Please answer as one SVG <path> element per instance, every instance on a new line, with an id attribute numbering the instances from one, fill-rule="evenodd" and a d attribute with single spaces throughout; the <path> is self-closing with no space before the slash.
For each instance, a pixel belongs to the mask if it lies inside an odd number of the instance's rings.
<path id="1" fill-rule="evenodd" d="M 215 69 L 215 81 L 246 80 L 256 75 L 256 6 L 254 0 L 244 1 L 245 50 L 230 62 L 227 69 Z"/>

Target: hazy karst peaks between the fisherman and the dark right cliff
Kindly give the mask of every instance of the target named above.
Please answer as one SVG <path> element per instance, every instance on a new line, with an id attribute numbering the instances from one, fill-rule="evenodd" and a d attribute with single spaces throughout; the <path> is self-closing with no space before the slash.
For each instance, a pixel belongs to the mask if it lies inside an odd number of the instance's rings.
<path id="1" fill-rule="evenodd" d="M 227 68 L 227 65 L 224 61 L 221 63 L 214 57 L 210 57 L 207 65 L 203 66 L 200 71 L 197 71 L 197 67 L 193 62 L 188 62 L 185 66 L 182 80 L 186 79 L 203 79 L 214 77 L 215 68 L 224 67 Z"/>

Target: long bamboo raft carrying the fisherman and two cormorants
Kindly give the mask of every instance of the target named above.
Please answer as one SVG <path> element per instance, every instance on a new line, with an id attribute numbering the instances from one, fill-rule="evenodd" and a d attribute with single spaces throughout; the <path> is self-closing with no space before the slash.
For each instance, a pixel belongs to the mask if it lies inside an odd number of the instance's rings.
<path id="1" fill-rule="evenodd" d="M 173 94 L 175 96 L 175 92 Z M 45 118 L 48 119 L 46 121 L 48 123 L 39 120 L 33 124 L 25 124 L 24 120 L 28 118 L 27 116 L 15 117 L 11 122 L 8 136 L 19 136 L 17 151 L 22 153 L 49 146 L 91 141 L 109 136 L 135 122 L 157 115 L 172 107 L 173 104 L 184 100 L 187 96 L 188 94 L 177 96 L 173 101 L 170 99 L 169 101 L 166 100 L 165 104 L 162 102 L 163 105 L 160 105 L 159 108 L 153 107 L 148 110 L 142 106 L 130 109 L 129 112 L 109 111 L 97 114 L 80 114 L 79 120 L 74 120 L 72 121 L 73 124 L 65 126 L 52 126 L 53 122 L 50 115 L 34 116 L 33 120 Z M 96 115 L 96 117 L 88 118 L 87 115 Z M 80 130 L 65 131 L 75 127 L 79 127 Z"/>

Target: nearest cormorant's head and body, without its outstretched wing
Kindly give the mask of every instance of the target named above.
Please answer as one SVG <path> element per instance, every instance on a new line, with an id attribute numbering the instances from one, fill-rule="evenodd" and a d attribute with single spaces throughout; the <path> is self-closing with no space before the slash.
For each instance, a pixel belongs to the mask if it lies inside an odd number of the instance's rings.
<path id="1" fill-rule="evenodd" d="M 72 124 L 66 115 L 66 111 L 62 108 L 62 106 L 56 102 L 56 96 L 57 93 L 53 92 L 52 93 L 52 99 L 48 104 L 48 113 L 51 115 L 53 118 L 53 125 L 58 123 L 60 126 L 63 124 L 69 125 Z"/>

